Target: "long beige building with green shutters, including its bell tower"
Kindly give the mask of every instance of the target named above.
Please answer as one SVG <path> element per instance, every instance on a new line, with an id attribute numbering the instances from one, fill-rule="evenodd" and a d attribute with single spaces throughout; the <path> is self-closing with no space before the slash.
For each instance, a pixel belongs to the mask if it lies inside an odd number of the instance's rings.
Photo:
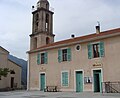
<path id="1" fill-rule="evenodd" d="M 39 0 L 30 35 L 28 90 L 58 86 L 61 91 L 102 91 L 102 82 L 120 81 L 120 28 L 54 42 L 53 12 Z"/>

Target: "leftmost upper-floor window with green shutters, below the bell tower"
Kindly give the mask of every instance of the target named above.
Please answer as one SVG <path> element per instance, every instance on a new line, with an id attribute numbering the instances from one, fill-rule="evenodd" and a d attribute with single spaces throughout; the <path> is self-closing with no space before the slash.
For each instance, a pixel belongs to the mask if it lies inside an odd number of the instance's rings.
<path id="1" fill-rule="evenodd" d="M 37 54 L 37 64 L 47 64 L 47 52 Z"/>

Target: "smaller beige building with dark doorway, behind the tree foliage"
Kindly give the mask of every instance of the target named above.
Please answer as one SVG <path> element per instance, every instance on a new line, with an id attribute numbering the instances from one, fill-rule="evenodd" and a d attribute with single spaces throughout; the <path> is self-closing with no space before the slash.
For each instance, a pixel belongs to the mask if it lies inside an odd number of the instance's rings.
<path id="1" fill-rule="evenodd" d="M 7 77 L 1 77 L 0 89 L 21 88 L 21 66 L 8 59 L 9 52 L 0 46 L 0 68 L 11 70 Z"/>

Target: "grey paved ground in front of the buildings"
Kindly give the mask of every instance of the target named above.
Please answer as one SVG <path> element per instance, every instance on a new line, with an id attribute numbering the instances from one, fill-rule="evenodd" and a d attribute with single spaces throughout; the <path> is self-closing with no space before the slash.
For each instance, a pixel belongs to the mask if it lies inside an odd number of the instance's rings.
<path id="1" fill-rule="evenodd" d="M 11 91 L 0 92 L 0 98 L 120 98 L 120 94 Z"/>

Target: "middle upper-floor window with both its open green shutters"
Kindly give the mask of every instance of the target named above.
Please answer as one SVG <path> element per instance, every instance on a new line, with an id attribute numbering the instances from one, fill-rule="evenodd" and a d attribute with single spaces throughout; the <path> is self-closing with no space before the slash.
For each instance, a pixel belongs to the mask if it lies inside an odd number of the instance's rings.
<path id="1" fill-rule="evenodd" d="M 58 62 L 71 61 L 71 48 L 58 50 Z"/>

